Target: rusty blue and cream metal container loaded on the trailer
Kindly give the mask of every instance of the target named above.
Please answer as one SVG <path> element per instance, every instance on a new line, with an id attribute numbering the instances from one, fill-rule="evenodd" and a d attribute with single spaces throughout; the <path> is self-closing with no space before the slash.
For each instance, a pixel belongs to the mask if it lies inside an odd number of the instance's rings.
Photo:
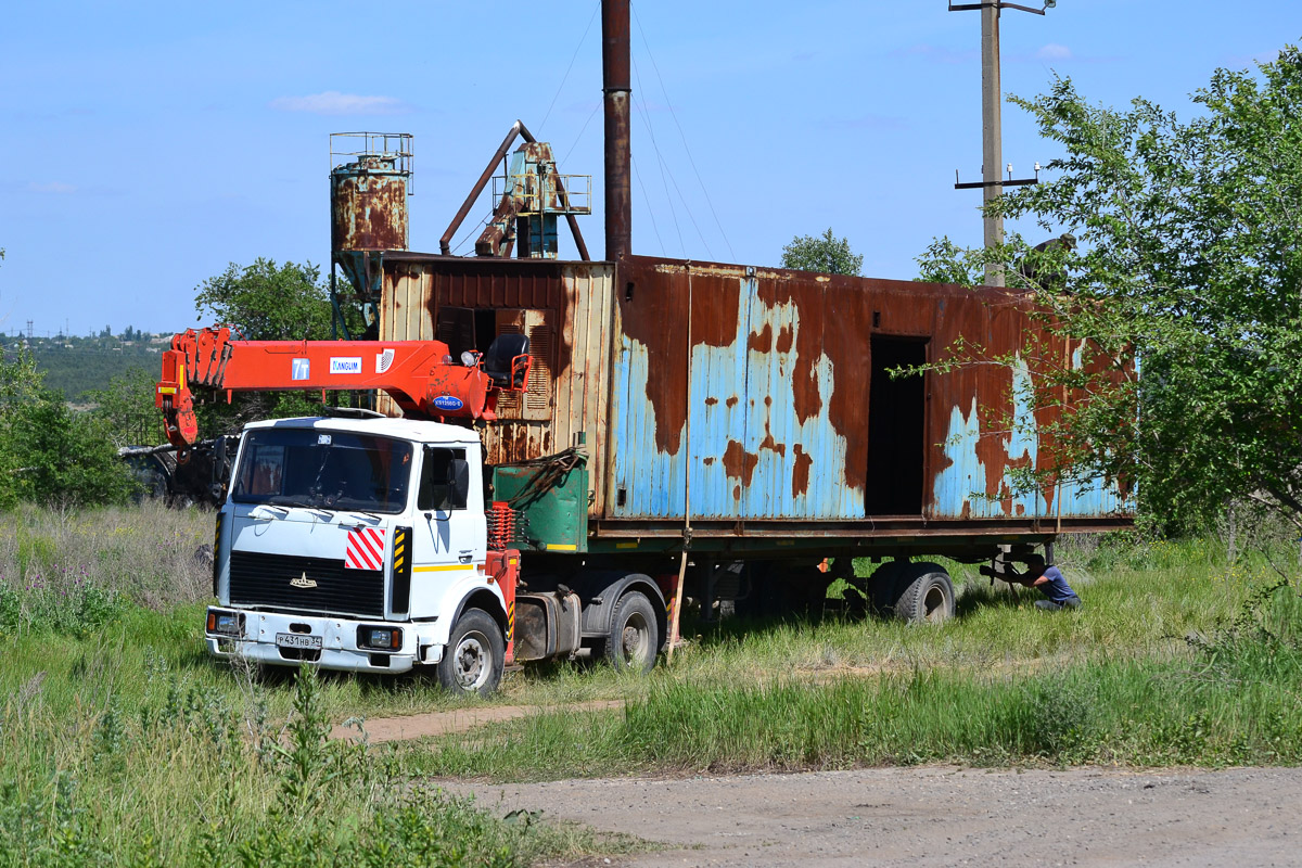
<path id="1" fill-rule="evenodd" d="M 960 336 L 1017 354 L 1039 327 L 1014 290 L 647 256 L 391 251 L 380 267 L 383 340 L 456 354 L 530 336 L 530 388 L 483 431 L 488 461 L 582 441 L 592 540 L 681 537 L 690 521 L 698 539 L 1043 541 L 1129 517 L 1103 481 L 1012 493 L 1009 471 L 1046 452 L 1048 419 L 1017 400 L 1030 363 L 888 376 L 944 362 Z"/>

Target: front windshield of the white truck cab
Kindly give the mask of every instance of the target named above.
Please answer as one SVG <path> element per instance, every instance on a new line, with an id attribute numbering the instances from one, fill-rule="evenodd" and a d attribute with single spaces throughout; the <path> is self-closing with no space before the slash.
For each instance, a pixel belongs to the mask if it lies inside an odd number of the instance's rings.
<path id="1" fill-rule="evenodd" d="M 245 435 L 230 497 L 237 504 L 336 511 L 401 513 L 411 444 L 314 428 L 260 428 Z"/>

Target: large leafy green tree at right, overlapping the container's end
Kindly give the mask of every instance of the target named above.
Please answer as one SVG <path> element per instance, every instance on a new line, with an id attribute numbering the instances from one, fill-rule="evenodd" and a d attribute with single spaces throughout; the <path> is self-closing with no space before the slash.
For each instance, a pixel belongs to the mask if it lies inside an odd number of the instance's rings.
<path id="1" fill-rule="evenodd" d="M 1009 285 L 1038 293 L 1051 331 L 1091 338 L 1030 396 L 1077 397 L 1049 432 L 1047 472 L 1134 480 L 1168 526 L 1255 501 L 1302 528 L 1302 55 L 1217 70 L 1187 122 L 1146 99 L 1091 105 L 1065 79 L 1013 102 L 1064 156 L 1053 181 L 992 207 L 1078 246 L 941 239 L 919 262 L 974 282 L 995 258 Z"/>

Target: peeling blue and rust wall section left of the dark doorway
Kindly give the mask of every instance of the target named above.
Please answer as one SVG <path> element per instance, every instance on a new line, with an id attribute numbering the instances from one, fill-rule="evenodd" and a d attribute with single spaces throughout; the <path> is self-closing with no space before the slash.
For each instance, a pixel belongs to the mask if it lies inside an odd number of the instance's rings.
<path id="1" fill-rule="evenodd" d="M 825 288 L 734 265 L 633 259 L 625 271 L 611 514 L 682 517 L 690 466 L 693 517 L 862 518 L 862 468 L 848 471 L 831 419 Z M 841 388 L 852 380 L 846 370 Z"/>

